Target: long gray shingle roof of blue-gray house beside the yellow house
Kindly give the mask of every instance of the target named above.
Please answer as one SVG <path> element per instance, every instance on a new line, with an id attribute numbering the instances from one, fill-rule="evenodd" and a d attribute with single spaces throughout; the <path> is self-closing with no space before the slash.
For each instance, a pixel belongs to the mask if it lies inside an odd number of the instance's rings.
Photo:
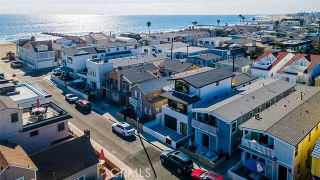
<path id="1" fill-rule="evenodd" d="M 232 121 L 268 100 L 293 88 L 294 84 L 281 79 L 262 79 L 233 91 L 224 100 L 206 108 L 194 108 L 194 111 L 210 111 L 225 121 Z M 236 93 L 236 94 L 234 94 Z M 254 98 L 253 98 L 254 97 Z M 232 109 L 232 110 L 230 110 Z"/>

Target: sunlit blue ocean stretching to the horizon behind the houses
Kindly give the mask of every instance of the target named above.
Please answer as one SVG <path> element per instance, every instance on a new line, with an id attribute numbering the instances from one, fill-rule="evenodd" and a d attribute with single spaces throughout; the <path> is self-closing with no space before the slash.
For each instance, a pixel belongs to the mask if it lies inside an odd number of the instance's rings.
<path id="1" fill-rule="evenodd" d="M 265 18 L 265 15 L 244 15 L 248 21 Z M 146 22 L 150 21 L 150 31 L 172 31 L 188 28 L 193 21 L 198 25 L 217 26 L 239 24 L 238 15 L 87 15 L 87 14 L 0 14 L 0 43 L 9 43 L 19 38 L 36 40 L 57 39 L 41 32 L 56 32 L 67 35 L 84 35 L 88 32 L 119 34 L 121 32 L 148 33 Z M 242 24 L 242 21 L 241 21 Z"/>

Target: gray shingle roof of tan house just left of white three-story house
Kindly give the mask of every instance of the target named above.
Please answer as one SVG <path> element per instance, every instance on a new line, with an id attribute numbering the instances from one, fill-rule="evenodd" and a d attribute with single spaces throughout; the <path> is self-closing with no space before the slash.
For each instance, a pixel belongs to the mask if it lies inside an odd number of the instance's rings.
<path id="1" fill-rule="evenodd" d="M 137 83 L 137 86 L 143 91 L 144 94 L 154 92 L 156 90 L 162 89 L 162 87 L 174 85 L 174 82 L 169 79 L 169 76 L 160 77 L 154 80 L 148 80 L 145 82 Z"/>

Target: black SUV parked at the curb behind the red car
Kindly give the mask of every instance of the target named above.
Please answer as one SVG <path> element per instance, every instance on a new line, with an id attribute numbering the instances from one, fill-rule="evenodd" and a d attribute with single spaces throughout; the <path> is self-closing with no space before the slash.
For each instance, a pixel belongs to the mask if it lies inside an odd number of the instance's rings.
<path id="1" fill-rule="evenodd" d="M 192 170 L 193 162 L 191 158 L 180 151 L 164 150 L 160 154 L 161 162 L 166 162 L 176 168 L 178 173 Z"/>

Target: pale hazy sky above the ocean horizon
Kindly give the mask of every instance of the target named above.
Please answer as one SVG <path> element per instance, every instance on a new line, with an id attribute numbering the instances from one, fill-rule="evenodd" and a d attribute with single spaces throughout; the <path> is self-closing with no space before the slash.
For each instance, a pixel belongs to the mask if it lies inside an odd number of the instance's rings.
<path id="1" fill-rule="evenodd" d="M 18 14 L 284 14 L 320 11 L 320 0 L 0 0 Z"/>

